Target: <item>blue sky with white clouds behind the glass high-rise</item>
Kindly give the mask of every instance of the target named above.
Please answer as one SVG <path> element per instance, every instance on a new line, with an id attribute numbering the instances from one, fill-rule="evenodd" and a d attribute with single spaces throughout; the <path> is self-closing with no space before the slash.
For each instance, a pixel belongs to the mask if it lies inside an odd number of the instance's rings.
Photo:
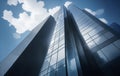
<path id="1" fill-rule="evenodd" d="M 0 0 L 0 62 L 36 25 L 69 4 L 108 25 L 120 24 L 120 0 Z"/>

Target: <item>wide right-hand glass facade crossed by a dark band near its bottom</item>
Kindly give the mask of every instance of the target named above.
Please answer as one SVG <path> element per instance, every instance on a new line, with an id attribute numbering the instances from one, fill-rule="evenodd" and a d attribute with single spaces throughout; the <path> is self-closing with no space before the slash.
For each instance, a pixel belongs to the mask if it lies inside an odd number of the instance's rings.
<path id="1" fill-rule="evenodd" d="M 69 8 L 90 51 L 100 66 L 120 56 L 120 40 L 106 24 L 75 6 Z"/>

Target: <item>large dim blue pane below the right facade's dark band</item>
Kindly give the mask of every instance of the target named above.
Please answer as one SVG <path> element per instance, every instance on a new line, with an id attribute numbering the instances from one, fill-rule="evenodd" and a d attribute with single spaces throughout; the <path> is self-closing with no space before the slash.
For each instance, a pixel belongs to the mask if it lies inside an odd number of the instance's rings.
<path id="1" fill-rule="evenodd" d="M 109 60 L 113 60 L 120 56 L 120 50 L 113 44 L 110 44 L 102 49 L 103 53 L 107 56 Z"/>

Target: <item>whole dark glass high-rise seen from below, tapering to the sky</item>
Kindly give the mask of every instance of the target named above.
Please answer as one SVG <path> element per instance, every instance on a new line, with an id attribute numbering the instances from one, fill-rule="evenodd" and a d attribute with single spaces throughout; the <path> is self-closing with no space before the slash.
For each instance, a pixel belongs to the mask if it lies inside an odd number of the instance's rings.
<path id="1" fill-rule="evenodd" d="M 5 76 L 119 76 L 120 36 L 74 5 L 49 16 L 0 63 Z"/>

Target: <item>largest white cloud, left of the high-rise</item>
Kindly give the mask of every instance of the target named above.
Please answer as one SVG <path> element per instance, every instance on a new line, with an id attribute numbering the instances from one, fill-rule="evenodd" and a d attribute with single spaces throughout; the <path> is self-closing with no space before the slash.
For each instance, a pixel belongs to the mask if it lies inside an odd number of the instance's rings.
<path id="1" fill-rule="evenodd" d="M 14 3 L 8 0 L 9 5 Z M 49 14 L 47 9 L 44 8 L 43 1 L 37 0 L 19 0 L 20 4 L 22 4 L 22 9 L 24 12 L 19 14 L 19 18 L 15 18 L 13 16 L 12 11 L 4 10 L 3 11 L 3 19 L 7 20 L 9 24 L 16 29 L 16 33 L 22 34 L 25 31 L 31 31 L 36 25 L 38 25 L 44 18 L 46 18 Z M 27 14 L 30 12 L 30 15 Z"/>

